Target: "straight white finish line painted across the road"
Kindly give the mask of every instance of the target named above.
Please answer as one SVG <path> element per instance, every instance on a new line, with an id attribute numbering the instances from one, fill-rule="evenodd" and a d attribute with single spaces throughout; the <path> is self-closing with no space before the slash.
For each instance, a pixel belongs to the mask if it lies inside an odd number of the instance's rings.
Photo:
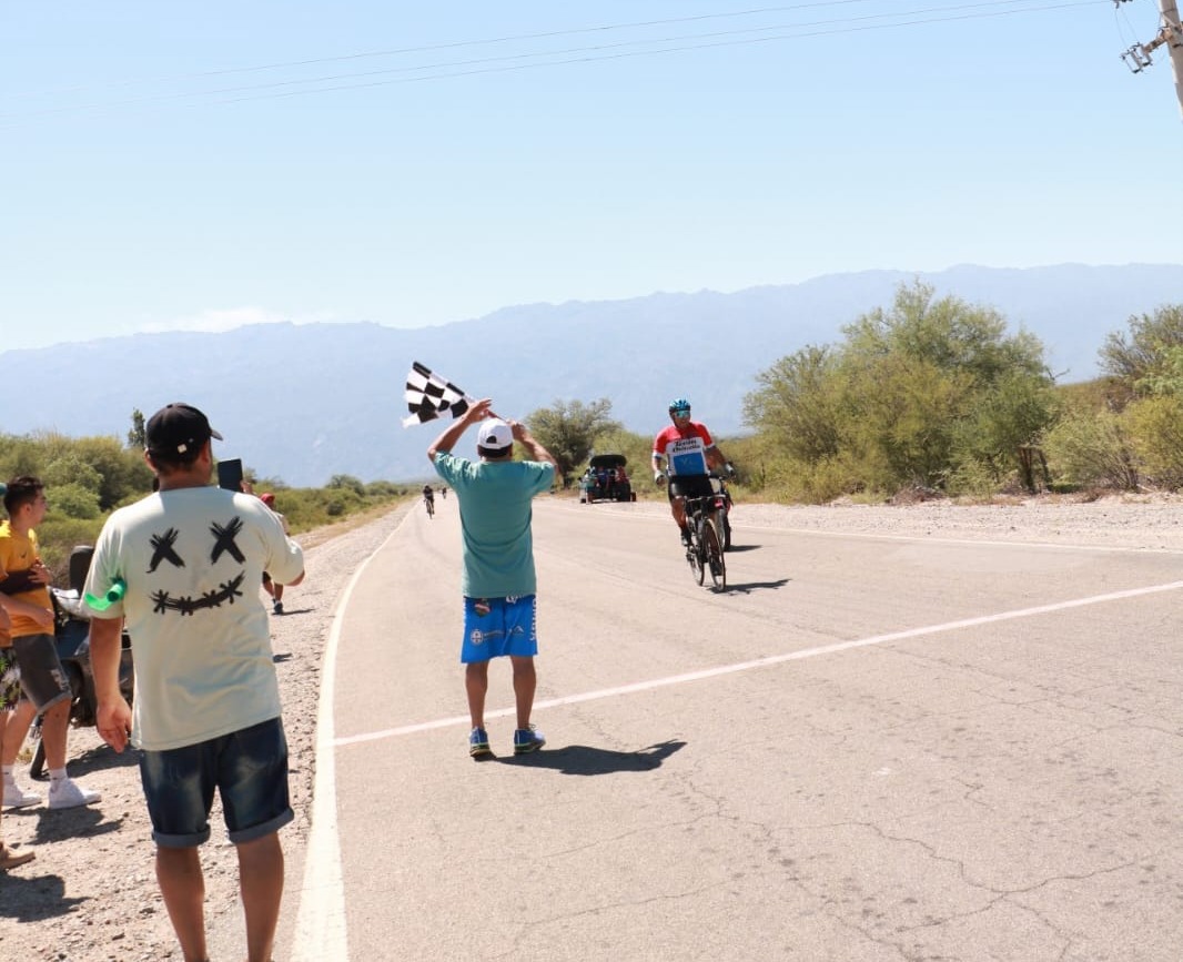
<path id="1" fill-rule="evenodd" d="M 930 634 L 943 634 L 945 632 L 956 632 L 963 628 L 996 625 L 1000 621 L 1013 621 L 1019 618 L 1036 618 L 1042 614 L 1054 614 L 1056 612 L 1071 611 L 1072 608 L 1084 608 L 1090 605 L 1105 605 L 1110 601 L 1124 601 L 1131 598 L 1142 598 L 1144 595 L 1161 594 L 1163 592 L 1177 592 L 1181 588 L 1183 588 L 1183 581 L 1171 581 L 1165 585 L 1151 585 L 1145 588 L 1130 588 L 1124 592 L 1110 592 L 1107 594 L 1091 595 L 1088 598 L 1078 598 L 1071 601 L 1058 601 L 1054 605 L 1039 605 L 1034 608 L 1019 608 L 1013 612 L 998 612 L 997 614 L 985 614 L 977 618 L 964 618 L 958 621 L 945 621 L 940 625 L 927 625 L 919 628 L 906 628 L 905 631 L 888 632 L 886 634 L 873 634 L 870 638 L 858 638 L 853 641 L 839 641 L 833 645 L 820 645 L 814 648 L 802 648 L 801 651 L 787 652 L 786 654 L 771 654 L 767 658 L 757 658 L 751 661 L 739 661 L 733 665 L 720 665 L 713 669 L 686 672 L 685 674 L 673 674 L 668 678 L 655 678 L 649 682 L 638 682 L 632 685 L 620 685 L 618 687 L 601 689 L 599 691 L 588 691 L 582 695 L 568 695 L 563 698 L 551 698 L 549 700 L 537 702 L 535 704 L 535 709 L 560 708 L 562 705 L 575 705 L 581 702 L 595 702 L 601 698 L 615 698 L 621 695 L 634 695 L 636 692 L 668 687 L 670 685 L 684 685 L 692 682 L 702 682 L 707 678 L 718 678 L 723 674 L 736 674 L 742 671 L 751 671 L 752 669 L 765 669 L 772 665 L 782 665 L 787 661 L 802 661 L 807 658 L 817 658 L 823 654 L 836 654 L 853 648 L 866 648 L 872 645 L 884 645 L 888 641 L 906 641 L 911 638 L 924 638 Z M 486 717 L 505 718 L 512 716 L 515 710 L 512 708 L 508 708 L 486 712 Z M 336 738 L 332 744 L 337 747 L 362 744 L 364 742 L 375 742 L 382 738 L 397 738 L 403 735 L 416 735 L 421 731 L 431 731 L 438 728 L 453 728 L 467 724 L 468 716 L 458 715 L 452 718 L 437 718 L 432 722 L 420 722 L 419 724 L 413 725 L 388 728 L 362 735 L 350 735 Z"/>

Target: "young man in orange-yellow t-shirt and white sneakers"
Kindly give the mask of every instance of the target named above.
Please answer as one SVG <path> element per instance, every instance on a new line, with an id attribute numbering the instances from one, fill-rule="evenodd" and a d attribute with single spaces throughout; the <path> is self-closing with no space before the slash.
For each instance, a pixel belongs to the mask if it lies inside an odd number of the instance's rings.
<path id="1" fill-rule="evenodd" d="M 50 572 L 41 563 L 38 524 L 49 502 L 40 479 L 25 474 L 8 482 L 4 495 L 8 519 L 0 524 L 0 593 L 12 620 L 12 648 L 20 669 L 24 697 L 4 725 L 0 768 L 4 773 L 4 805 L 17 808 L 38 805 L 40 795 L 17 785 L 13 768 L 34 715 L 41 716 L 41 743 L 50 770 L 50 808 L 91 805 L 102 796 L 66 775 L 66 734 L 73 692 L 58 658 L 53 634 L 53 602 Z"/>

